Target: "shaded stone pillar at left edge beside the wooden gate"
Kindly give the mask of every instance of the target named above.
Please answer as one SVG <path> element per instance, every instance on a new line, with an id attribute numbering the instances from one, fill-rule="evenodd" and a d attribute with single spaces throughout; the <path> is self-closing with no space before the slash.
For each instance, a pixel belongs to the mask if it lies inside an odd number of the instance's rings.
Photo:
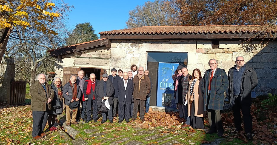
<path id="1" fill-rule="evenodd" d="M 0 64 L 0 101 L 10 103 L 11 80 L 15 77 L 14 58 L 3 57 Z"/>

